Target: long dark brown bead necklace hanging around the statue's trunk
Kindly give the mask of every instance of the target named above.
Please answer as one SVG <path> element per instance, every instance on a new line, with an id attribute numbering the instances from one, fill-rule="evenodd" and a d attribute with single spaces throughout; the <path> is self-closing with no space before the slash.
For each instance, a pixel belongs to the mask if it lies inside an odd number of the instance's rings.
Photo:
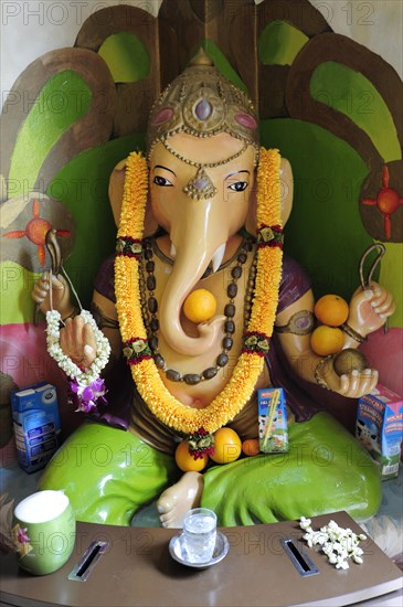
<path id="1" fill-rule="evenodd" d="M 236 265 L 231 270 L 231 283 L 226 288 L 226 295 L 229 296 L 229 302 L 224 307 L 225 322 L 224 331 L 225 336 L 222 340 L 222 352 L 215 360 L 215 364 L 204 369 L 201 373 L 185 373 L 182 375 L 180 371 L 176 369 L 170 369 L 167 365 L 167 362 L 162 354 L 159 352 L 159 342 L 158 342 L 158 330 L 159 330 L 159 320 L 158 320 L 158 301 L 155 296 L 155 289 L 157 287 L 153 262 L 153 251 L 152 242 L 150 239 L 145 239 L 142 243 L 144 246 L 144 265 L 142 273 L 140 273 L 140 294 L 141 294 L 141 306 L 142 313 L 145 319 L 145 324 L 147 329 L 147 334 L 149 339 L 149 345 L 152 353 L 153 361 L 159 370 L 161 370 L 168 380 L 171 382 L 184 382 L 188 385 L 197 385 L 200 382 L 205 380 L 212 380 L 215 377 L 220 369 L 223 369 L 229 363 L 229 352 L 234 344 L 233 336 L 235 333 L 235 297 L 237 295 L 237 280 L 242 276 L 243 268 L 247 259 L 247 253 L 252 251 L 252 242 L 245 241 L 238 251 L 235 254 Z M 231 263 L 231 262 L 230 262 Z M 227 266 L 229 264 L 224 264 Z M 222 266 L 222 267 L 224 267 Z M 220 269 L 220 268 L 219 268 Z M 147 274 L 147 279 L 145 275 Z M 146 288 L 148 290 L 148 298 L 146 298 Z"/>

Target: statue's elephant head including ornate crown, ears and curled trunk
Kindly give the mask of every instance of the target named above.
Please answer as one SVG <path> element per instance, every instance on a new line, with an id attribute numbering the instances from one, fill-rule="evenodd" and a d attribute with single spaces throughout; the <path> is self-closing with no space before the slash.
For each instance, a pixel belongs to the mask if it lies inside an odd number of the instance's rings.
<path id="1" fill-rule="evenodd" d="M 155 105 L 147 139 L 145 235 L 162 227 L 173 260 L 159 301 L 159 330 L 171 350 L 197 356 L 222 339 L 224 317 L 199 324 L 197 337 L 191 337 L 181 323 L 182 305 L 206 268 L 211 265 L 215 271 L 225 260 L 240 228 L 255 233 L 257 119 L 246 95 L 201 51 Z M 124 163 L 116 168 L 109 190 L 117 221 L 123 169 Z M 287 206 L 291 185 L 284 183 Z"/>

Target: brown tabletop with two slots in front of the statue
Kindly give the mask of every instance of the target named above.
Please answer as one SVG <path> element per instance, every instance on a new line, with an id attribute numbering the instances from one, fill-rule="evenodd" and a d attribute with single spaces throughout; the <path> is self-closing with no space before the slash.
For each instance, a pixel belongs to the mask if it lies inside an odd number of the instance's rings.
<path id="1" fill-rule="evenodd" d="M 317 529 L 333 519 L 356 533 L 346 512 L 312 519 Z M 300 544 L 319 573 L 301 576 L 282 540 L 301 540 L 296 521 L 222 528 L 230 542 L 226 557 L 195 569 L 172 560 L 168 544 L 178 530 L 120 528 L 77 523 L 75 550 L 57 572 L 34 577 L 19 568 L 13 555 L 1 556 L 1 604 L 14 606 L 290 606 L 350 605 L 392 593 L 402 572 L 371 540 L 360 545 L 363 564 L 336 569 L 315 549 Z M 107 541 L 106 553 L 86 582 L 68 579 L 92 541 Z"/>

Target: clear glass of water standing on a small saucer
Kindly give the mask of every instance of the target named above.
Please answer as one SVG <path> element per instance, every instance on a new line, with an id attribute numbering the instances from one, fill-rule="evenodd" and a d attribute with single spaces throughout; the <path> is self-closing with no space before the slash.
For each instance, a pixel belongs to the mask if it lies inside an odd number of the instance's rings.
<path id="1" fill-rule="evenodd" d="M 206 508 L 193 508 L 183 519 L 182 557 L 189 563 L 209 563 L 216 540 L 216 515 Z"/>

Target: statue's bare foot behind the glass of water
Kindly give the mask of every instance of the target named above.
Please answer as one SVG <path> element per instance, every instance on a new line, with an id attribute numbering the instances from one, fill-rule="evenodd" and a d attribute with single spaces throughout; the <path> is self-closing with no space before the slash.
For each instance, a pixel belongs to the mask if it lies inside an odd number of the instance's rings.
<path id="1" fill-rule="evenodd" d="M 161 525 L 182 529 L 184 514 L 198 508 L 202 491 L 203 477 L 199 472 L 185 472 L 176 484 L 166 489 L 157 502 Z"/>

